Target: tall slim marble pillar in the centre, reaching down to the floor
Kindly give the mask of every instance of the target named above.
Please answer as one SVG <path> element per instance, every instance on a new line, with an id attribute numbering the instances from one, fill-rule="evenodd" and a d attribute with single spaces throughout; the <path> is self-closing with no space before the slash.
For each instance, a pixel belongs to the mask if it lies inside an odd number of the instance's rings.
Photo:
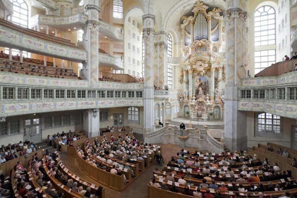
<path id="1" fill-rule="evenodd" d="M 154 15 L 143 15 L 143 38 L 144 38 L 144 123 L 146 132 L 154 130 Z M 146 140 L 144 140 L 146 141 Z"/>

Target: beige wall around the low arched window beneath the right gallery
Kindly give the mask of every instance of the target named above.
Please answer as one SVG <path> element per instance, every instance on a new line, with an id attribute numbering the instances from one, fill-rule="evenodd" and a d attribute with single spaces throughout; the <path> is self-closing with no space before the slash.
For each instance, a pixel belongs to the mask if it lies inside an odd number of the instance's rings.
<path id="1" fill-rule="evenodd" d="M 292 125 L 296 125 L 296 120 L 290 118 L 281 118 L 281 124 L 283 126 L 282 138 L 273 137 L 259 137 L 255 135 L 255 113 L 246 112 L 247 115 L 247 146 L 257 146 L 258 144 L 267 144 L 267 142 L 273 142 L 279 145 L 290 147 L 291 145 L 291 133 Z"/>

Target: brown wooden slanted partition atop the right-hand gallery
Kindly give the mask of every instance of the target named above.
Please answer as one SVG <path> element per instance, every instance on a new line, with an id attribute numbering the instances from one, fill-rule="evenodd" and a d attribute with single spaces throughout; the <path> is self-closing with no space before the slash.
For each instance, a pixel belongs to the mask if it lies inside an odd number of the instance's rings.
<path id="1" fill-rule="evenodd" d="M 294 70 L 296 63 L 297 63 L 297 59 L 278 62 L 276 64 L 273 64 L 263 69 L 261 72 L 257 73 L 256 76 L 257 77 L 279 76 Z"/>

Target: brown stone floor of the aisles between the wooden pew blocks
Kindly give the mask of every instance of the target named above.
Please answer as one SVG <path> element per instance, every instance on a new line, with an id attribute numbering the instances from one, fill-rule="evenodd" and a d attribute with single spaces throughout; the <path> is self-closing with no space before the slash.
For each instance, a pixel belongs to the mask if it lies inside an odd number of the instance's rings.
<path id="1" fill-rule="evenodd" d="M 180 146 L 172 145 L 172 144 L 166 144 L 162 145 L 162 155 L 165 159 L 165 162 L 169 161 L 171 159 L 172 155 L 175 155 L 178 151 L 181 150 Z M 184 148 L 185 150 L 191 150 L 194 151 L 195 148 Z M 63 160 L 63 163 L 65 167 L 67 167 L 71 172 L 73 172 L 75 175 L 78 175 L 80 178 L 83 178 L 91 183 L 99 185 L 95 180 L 89 178 L 87 175 L 85 175 L 76 165 L 75 159 L 68 157 L 67 153 L 60 154 L 61 159 Z M 151 165 L 148 169 L 146 169 L 143 173 L 141 173 L 135 180 L 132 181 L 132 183 L 127 186 L 126 189 L 124 189 L 122 192 L 114 191 L 112 189 L 105 188 L 105 197 L 106 198 L 128 198 L 128 197 L 138 197 L 138 198 L 146 198 L 146 186 L 149 183 L 149 181 L 152 178 L 152 173 L 155 168 L 162 169 L 162 166 L 160 165 Z"/>

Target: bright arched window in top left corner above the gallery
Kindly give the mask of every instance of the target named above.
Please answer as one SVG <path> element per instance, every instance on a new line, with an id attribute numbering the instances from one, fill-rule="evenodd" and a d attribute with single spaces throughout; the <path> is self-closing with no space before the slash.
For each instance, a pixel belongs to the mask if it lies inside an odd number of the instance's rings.
<path id="1" fill-rule="evenodd" d="M 24 0 L 11 0 L 13 3 L 12 23 L 28 28 L 28 6 Z"/>

